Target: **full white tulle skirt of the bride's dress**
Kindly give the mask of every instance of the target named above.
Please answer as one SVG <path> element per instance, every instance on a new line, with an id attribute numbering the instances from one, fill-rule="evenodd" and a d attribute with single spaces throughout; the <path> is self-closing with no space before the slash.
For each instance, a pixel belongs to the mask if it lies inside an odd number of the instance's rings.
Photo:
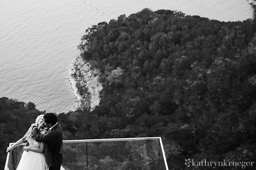
<path id="1" fill-rule="evenodd" d="M 23 151 L 16 170 L 48 170 L 45 155 L 32 151 Z"/>

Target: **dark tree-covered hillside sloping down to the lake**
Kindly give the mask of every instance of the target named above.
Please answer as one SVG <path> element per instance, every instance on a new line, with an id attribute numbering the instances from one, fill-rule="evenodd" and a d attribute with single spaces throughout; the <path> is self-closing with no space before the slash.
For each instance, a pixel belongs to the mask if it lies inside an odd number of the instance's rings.
<path id="1" fill-rule="evenodd" d="M 172 170 L 186 169 L 188 158 L 255 162 L 255 33 L 252 19 L 219 22 L 170 10 L 144 9 L 93 25 L 78 48 L 100 71 L 101 101 L 92 111 L 81 107 L 58 115 L 64 140 L 160 136 Z M 5 106 L 11 107 L 1 105 L 1 117 L 8 115 Z M 39 114 L 19 107 L 29 116 Z M 1 128 L 17 134 L 30 125 L 17 128 L 7 126 L 17 119 L 4 120 Z"/>

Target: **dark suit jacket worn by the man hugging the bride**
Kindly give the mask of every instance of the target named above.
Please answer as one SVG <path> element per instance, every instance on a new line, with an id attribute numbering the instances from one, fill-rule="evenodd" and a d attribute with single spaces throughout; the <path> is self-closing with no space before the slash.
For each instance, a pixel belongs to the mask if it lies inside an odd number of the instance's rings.
<path id="1" fill-rule="evenodd" d="M 45 142 L 44 155 L 46 163 L 49 167 L 61 165 L 62 157 L 62 140 L 63 134 L 59 124 L 56 124 L 51 130 L 45 134 L 39 134 L 37 129 L 34 128 L 31 132 L 36 142 Z"/>

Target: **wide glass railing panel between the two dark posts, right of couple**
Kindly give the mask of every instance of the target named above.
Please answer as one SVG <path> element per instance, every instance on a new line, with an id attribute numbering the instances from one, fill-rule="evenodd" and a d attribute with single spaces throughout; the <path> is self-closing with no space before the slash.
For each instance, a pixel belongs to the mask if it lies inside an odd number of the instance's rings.
<path id="1" fill-rule="evenodd" d="M 157 168 L 158 141 L 112 141 L 88 144 L 89 169 Z"/>

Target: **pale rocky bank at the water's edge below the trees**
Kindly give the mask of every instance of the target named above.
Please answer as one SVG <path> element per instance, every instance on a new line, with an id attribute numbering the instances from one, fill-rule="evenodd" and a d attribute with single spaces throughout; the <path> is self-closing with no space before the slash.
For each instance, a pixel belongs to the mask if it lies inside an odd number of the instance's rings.
<path id="1" fill-rule="evenodd" d="M 102 85 L 99 71 L 92 69 L 81 56 L 77 56 L 68 69 L 68 80 L 76 97 L 75 109 L 93 110 L 100 102 Z M 79 89 L 78 89 L 79 88 Z M 82 91 L 82 93 L 81 93 Z"/>

